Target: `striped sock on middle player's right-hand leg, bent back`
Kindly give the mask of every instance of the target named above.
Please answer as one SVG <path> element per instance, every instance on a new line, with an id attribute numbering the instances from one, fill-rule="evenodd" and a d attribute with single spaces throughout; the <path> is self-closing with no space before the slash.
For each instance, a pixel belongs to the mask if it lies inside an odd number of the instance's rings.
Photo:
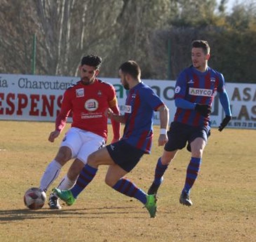
<path id="1" fill-rule="evenodd" d="M 112 188 L 126 196 L 138 199 L 143 204 L 147 203 L 147 194 L 126 178 L 118 180 Z"/>

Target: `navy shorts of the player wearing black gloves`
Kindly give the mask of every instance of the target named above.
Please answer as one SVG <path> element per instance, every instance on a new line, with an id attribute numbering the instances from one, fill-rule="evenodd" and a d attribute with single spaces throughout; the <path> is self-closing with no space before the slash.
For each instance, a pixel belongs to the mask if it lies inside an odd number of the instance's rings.
<path id="1" fill-rule="evenodd" d="M 172 122 L 167 132 L 168 142 L 164 146 L 166 151 L 181 150 L 187 144 L 187 150 L 191 151 L 190 143 L 195 138 L 203 138 L 206 142 L 210 136 L 210 127 L 194 127 L 179 122 Z"/>

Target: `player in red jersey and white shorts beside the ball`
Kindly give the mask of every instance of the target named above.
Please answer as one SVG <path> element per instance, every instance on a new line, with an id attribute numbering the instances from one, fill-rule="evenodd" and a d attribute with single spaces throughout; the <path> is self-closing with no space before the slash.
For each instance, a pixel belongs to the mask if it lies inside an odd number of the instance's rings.
<path id="1" fill-rule="evenodd" d="M 40 189 L 48 190 L 59 175 L 64 164 L 75 158 L 68 173 L 59 183 L 59 189 L 70 189 L 87 162 L 89 154 L 103 147 L 107 140 L 108 118 L 104 115 L 107 108 L 119 114 L 115 88 L 97 79 L 102 59 L 99 56 L 85 56 L 79 67 L 81 80 L 64 93 L 60 113 L 56 118 L 56 128 L 49 135 L 49 141 L 59 136 L 72 112 L 72 124 L 66 133 L 59 151 L 46 167 L 40 181 Z M 112 143 L 120 139 L 120 123 L 112 120 L 114 137 Z M 50 209 L 61 209 L 55 194 L 49 196 Z"/>

